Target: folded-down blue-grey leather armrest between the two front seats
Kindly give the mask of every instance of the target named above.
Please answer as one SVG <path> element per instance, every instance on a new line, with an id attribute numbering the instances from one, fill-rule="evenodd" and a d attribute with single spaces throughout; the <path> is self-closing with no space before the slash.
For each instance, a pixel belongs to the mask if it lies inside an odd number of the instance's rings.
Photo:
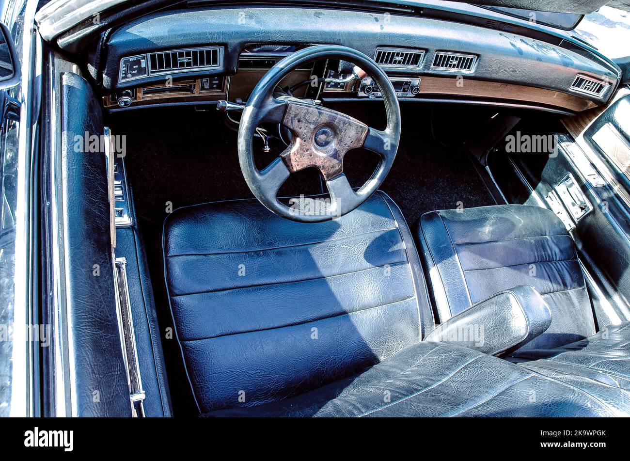
<path id="1" fill-rule="evenodd" d="M 544 333 L 551 310 L 534 287 L 496 293 L 435 327 L 424 341 L 459 343 L 490 355 L 520 348 Z"/>

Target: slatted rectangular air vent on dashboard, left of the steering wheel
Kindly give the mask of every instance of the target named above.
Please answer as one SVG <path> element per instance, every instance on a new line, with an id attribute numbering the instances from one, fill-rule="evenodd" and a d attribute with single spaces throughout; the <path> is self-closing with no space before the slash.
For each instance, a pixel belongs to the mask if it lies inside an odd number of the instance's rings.
<path id="1" fill-rule="evenodd" d="M 149 53 L 149 73 L 170 74 L 219 67 L 222 50 L 221 47 L 209 47 Z"/>

